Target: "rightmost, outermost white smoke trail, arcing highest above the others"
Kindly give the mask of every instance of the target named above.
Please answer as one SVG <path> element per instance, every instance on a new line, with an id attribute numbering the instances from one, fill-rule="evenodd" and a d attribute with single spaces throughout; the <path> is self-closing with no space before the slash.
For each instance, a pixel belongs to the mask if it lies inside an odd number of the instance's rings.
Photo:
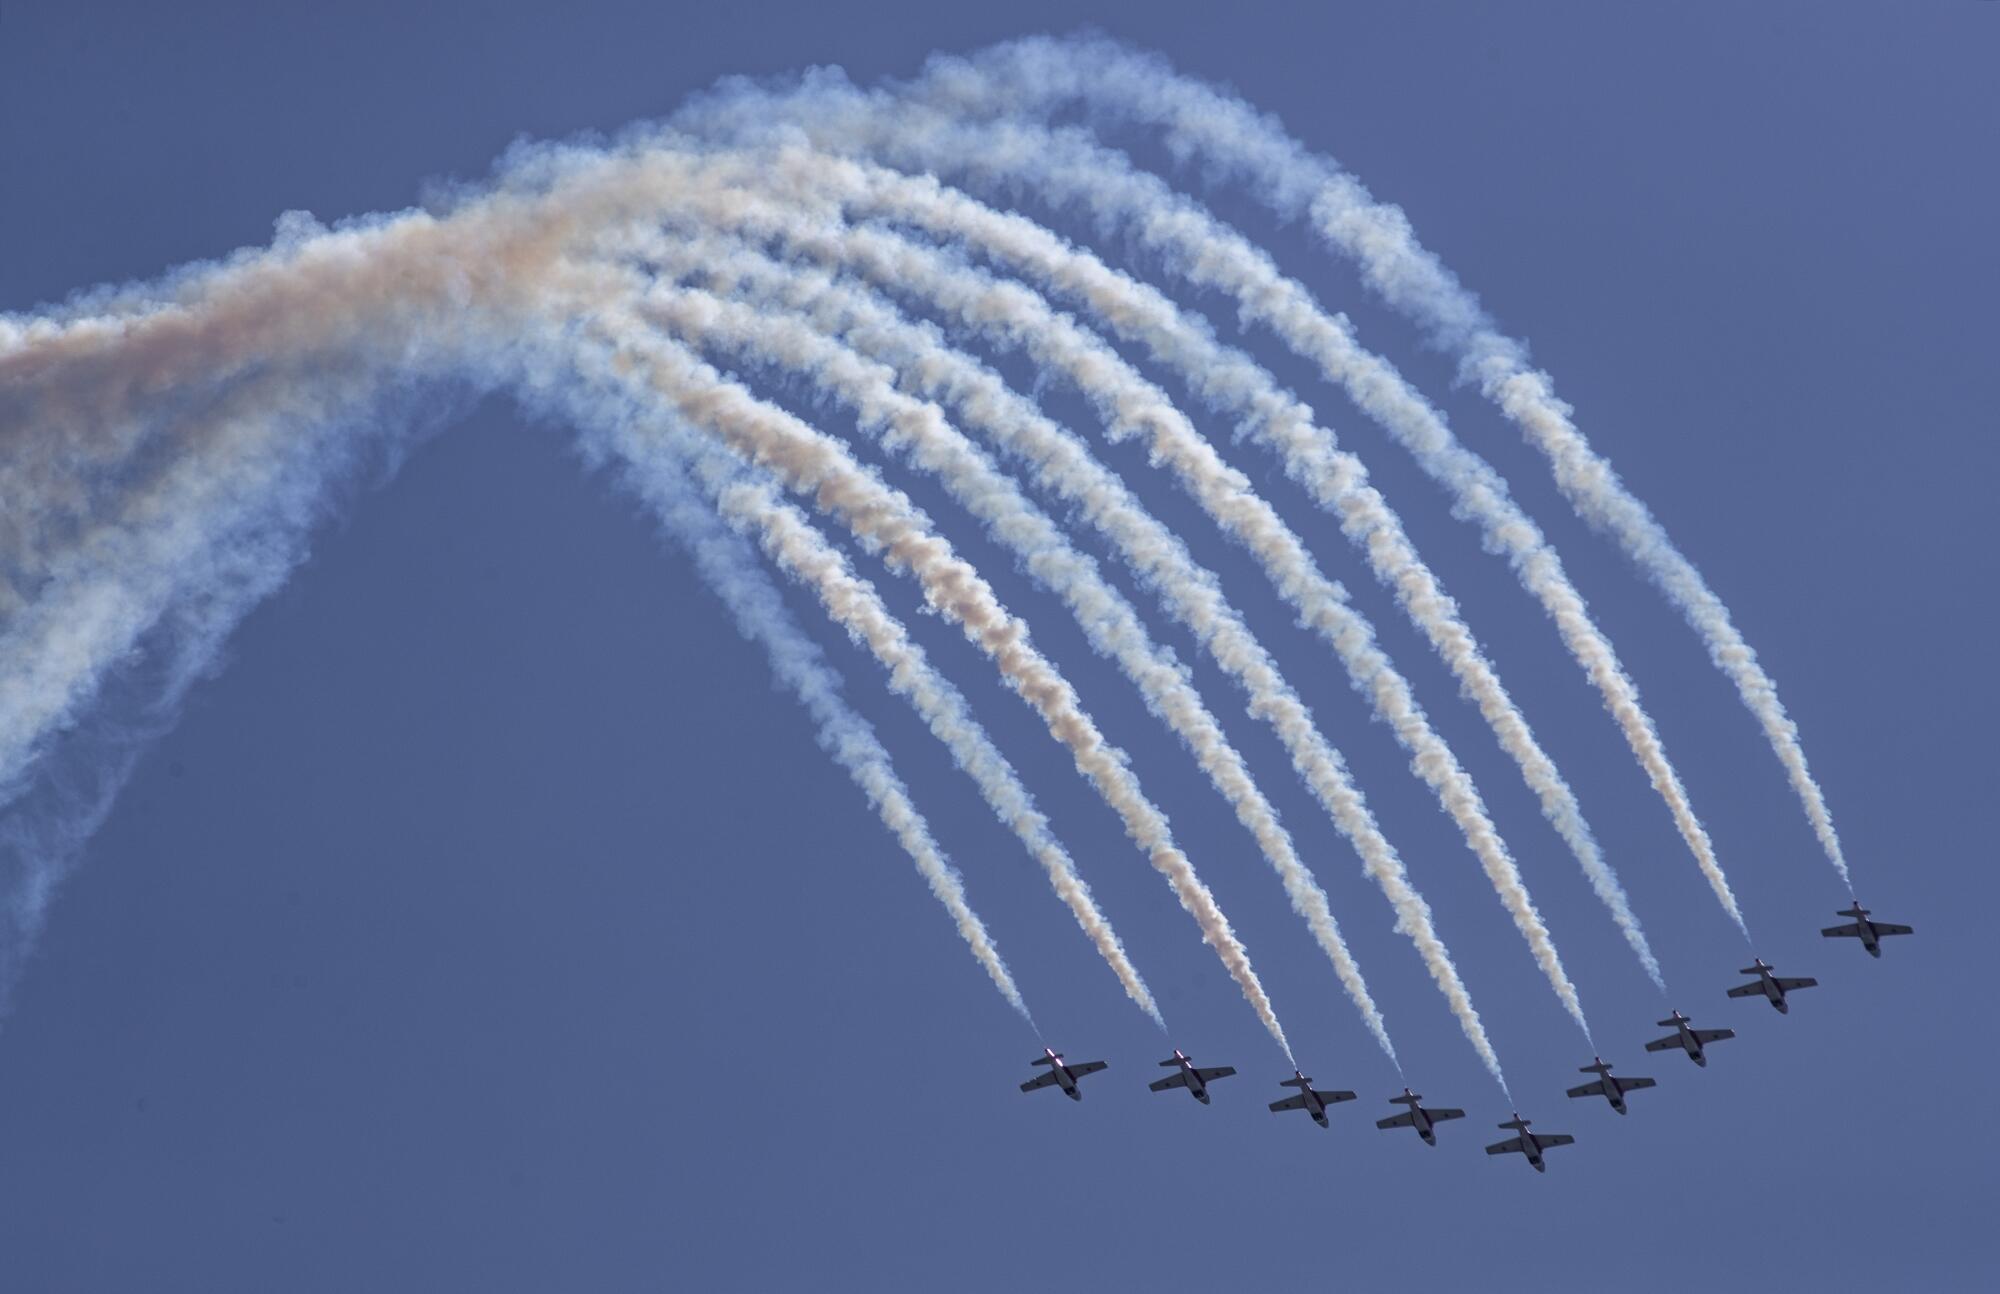
<path id="1" fill-rule="evenodd" d="M 960 112 L 1010 116 L 1084 106 L 1100 120 L 1158 126 L 1178 158 L 1200 162 L 1210 176 L 1244 182 L 1280 216 L 1310 218 L 1326 242 L 1356 262 L 1370 288 L 1418 320 L 1438 348 L 1458 354 L 1460 372 L 1478 380 L 1550 458 L 1558 486 L 1578 512 L 1608 530 L 1668 594 L 1764 728 L 1820 846 L 1848 882 L 1840 838 L 1808 770 L 1798 726 L 1728 608 L 1646 506 L 1624 490 L 1610 464 L 1590 450 L 1548 376 L 1528 366 L 1526 348 L 1494 328 L 1478 300 L 1416 240 L 1400 208 L 1378 202 L 1354 176 L 1310 154 L 1242 100 L 1114 42 L 998 46 L 972 62 L 934 62 L 920 86 Z M 1722 898 L 1714 874 L 1710 886 Z M 1734 908 L 1730 914 L 1742 924 Z"/>

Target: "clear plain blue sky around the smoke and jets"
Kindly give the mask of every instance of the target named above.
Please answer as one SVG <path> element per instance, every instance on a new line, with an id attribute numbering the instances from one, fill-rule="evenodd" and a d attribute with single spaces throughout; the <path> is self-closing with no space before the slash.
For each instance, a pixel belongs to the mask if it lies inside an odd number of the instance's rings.
<path id="1" fill-rule="evenodd" d="M 658 116 L 722 74 L 906 74 L 1082 18 L 266 8 L 0 12 L 0 308 L 264 242 L 288 208 L 404 206 L 516 136 Z M 1844 892 L 1680 618 L 1352 274 L 1224 202 L 1510 476 L 1644 690 L 1758 952 L 1822 988 L 1788 1018 L 1722 998 L 1750 952 L 1552 628 L 1374 426 L 1254 338 L 1460 598 L 1622 870 L 1670 1002 L 1338 532 L 1268 460 L 1230 454 L 1348 582 L 1478 778 L 1606 1058 L 1660 1088 L 1624 1120 L 1564 1100 L 1590 1052 L 1428 792 L 1262 580 L 1114 452 L 1348 752 L 1522 1112 L 1578 1146 L 1540 1178 L 1480 1154 L 1498 1090 L 1202 662 L 1412 1082 L 1470 1110 L 1436 1150 L 1376 1132 L 1396 1074 L 1222 802 L 1058 606 L 898 474 L 1132 752 L 1308 1072 L 1362 1100 L 1332 1132 L 1264 1112 L 1282 1058 L 970 648 L 916 624 L 1084 864 L 1170 1040 L 872 666 L 828 640 L 1048 1040 L 1112 1062 L 1082 1106 L 1020 1096 L 1036 1036 L 800 710 L 686 560 L 578 470 L 564 428 L 494 398 L 316 536 L 56 904 L 0 1028 L 0 1286 L 1664 1290 L 1688 1264 L 1716 1288 L 1988 1286 L 2000 6 L 1230 8 L 1094 22 L 1344 160 L 1532 340 L 1764 654 L 1864 902 L 1920 936 L 1882 962 L 1818 938 Z M 1646 1056 L 1668 1006 L 1740 1038 L 1708 1070 Z M 1174 1044 L 1242 1076 L 1206 1110 L 1152 1096 Z"/>

